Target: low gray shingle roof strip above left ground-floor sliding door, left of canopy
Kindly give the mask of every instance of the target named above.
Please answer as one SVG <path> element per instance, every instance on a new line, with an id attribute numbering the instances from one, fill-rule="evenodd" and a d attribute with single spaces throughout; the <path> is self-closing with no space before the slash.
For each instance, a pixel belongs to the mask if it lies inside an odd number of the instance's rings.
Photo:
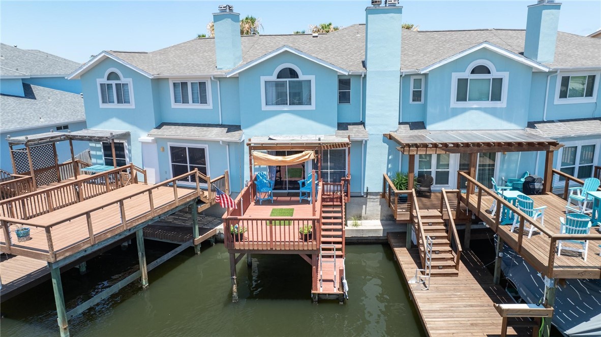
<path id="1" fill-rule="evenodd" d="M 162 123 L 150 130 L 148 137 L 240 142 L 243 134 L 240 125 Z"/>

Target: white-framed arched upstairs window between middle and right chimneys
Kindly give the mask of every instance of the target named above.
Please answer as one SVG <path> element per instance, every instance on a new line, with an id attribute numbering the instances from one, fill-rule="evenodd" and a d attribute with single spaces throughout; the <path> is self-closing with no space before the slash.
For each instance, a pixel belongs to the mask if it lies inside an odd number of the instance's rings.
<path id="1" fill-rule="evenodd" d="M 506 107 L 508 82 L 508 72 L 484 59 L 474 61 L 465 73 L 452 74 L 451 107 Z"/>

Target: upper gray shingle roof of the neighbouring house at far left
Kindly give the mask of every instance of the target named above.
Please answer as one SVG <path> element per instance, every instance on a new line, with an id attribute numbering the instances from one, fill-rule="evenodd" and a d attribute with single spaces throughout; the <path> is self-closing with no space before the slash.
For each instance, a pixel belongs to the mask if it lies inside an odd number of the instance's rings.
<path id="1" fill-rule="evenodd" d="M 66 76 L 73 73 L 81 64 L 40 50 L 25 50 L 0 43 L 1 76 L 16 76 L 5 74 L 4 69 L 28 76 Z"/>

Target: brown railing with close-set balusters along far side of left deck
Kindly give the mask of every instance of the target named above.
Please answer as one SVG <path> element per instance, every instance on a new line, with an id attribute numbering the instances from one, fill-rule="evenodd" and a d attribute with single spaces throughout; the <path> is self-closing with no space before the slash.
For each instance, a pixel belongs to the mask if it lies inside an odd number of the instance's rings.
<path id="1" fill-rule="evenodd" d="M 136 173 L 141 173 L 146 182 L 145 170 L 129 164 L 93 176 L 84 176 L 71 182 L 1 200 L 1 214 L 16 219 L 31 219 L 114 191 L 130 183 L 137 183 L 138 174 Z"/>

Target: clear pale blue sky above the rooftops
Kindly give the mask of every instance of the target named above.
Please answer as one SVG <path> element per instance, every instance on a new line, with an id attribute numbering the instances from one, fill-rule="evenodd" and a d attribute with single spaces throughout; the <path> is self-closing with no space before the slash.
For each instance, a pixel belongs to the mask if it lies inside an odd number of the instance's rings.
<path id="1" fill-rule="evenodd" d="M 403 1 L 403 21 L 421 30 L 526 27 L 529 1 Z M 263 34 L 308 25 L 365 22 L 361 1 L 103 1 L 0 2 L 2 43 L 85 62 L 102 50 L 152 51 L 206 33 L 219 4 L 261 19 Z M 560 31 L 588 35 L 601 28 L 601 0 L 563 1 Z"/>

